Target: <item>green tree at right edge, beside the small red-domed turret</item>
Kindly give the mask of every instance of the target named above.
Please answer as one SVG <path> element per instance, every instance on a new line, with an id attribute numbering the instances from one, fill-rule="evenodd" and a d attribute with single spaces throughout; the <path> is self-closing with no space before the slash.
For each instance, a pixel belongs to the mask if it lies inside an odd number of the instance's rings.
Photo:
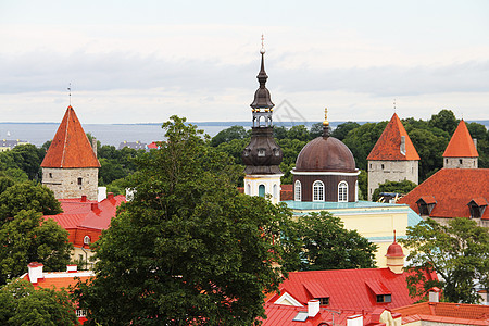
<path id="1" fill-rule="evenodd" d="M 453 218 L 440 225 L 428 218 L 408 228 L 408 237 L 399 240 L 410 249 L 410 269 L 417 272 L 409 279 L 413 297 L 426 294 L 434 283 L 419 271 L 434 269 L 449 302 L 477 303 L 474 285 L 489 287 L 489 230 L 468 218 Z"/>

